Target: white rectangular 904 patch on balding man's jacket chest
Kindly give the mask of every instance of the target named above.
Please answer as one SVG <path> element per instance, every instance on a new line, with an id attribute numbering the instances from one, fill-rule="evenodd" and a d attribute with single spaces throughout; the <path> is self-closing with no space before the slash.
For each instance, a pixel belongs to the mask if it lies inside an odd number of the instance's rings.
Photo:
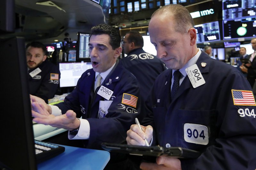
<path id="1" fill-rule="evenodd" d="M 188 143 L 203 144 L 209 143 L 208 128 L 200 124 L 184 124 L 184 140 Z"/>

